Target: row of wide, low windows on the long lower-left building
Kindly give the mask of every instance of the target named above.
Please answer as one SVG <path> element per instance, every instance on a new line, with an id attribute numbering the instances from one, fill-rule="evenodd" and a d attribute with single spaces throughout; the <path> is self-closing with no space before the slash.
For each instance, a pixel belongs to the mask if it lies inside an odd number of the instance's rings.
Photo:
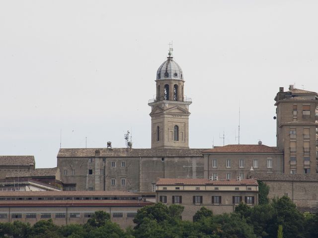
<path id="1" fill-rule="evenodd" d="M 66 218 L 66 213 L 54 213 L 55 218 Z M 85 218 L 90 218 L 94 213 L 84 213 Z M 22 218 L 22 213 L 12 213 L 11 218 Z M 136 212 L 128 212 L 127 217 L 136 217 Z M 52 218 L 51 213 L 40 213 L 40 218 Z M 80 218 L 80 213 L 70 213 L 70 218 Z M 112 213 L 112 217 L 123 217 L 122 212 L 114 212 Z M 0 213 L 0 218 L 5 219 L 8 218 L 7 213 Z M 25 218 L 37 218 L 37 213 L 26 213 Z"/>

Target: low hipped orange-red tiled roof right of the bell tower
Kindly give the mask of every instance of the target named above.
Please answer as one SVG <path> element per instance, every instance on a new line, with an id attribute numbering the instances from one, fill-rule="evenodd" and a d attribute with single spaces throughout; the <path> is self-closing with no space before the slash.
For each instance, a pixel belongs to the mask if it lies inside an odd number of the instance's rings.
<path id="1" fill-rule="evenodd" d="M 222 152 L 222 153 L 282 153 L 276 147 L 266 145 L 225 145 L 205 150 L 203 153 Z"/>

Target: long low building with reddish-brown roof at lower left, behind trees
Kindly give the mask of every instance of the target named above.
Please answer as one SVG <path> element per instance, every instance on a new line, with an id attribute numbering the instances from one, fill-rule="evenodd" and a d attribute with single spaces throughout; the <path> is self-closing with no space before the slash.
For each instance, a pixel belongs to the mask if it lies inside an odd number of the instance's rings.
<path id="1" fill-rule="evenodd" d="M 52 219 L 57 225 L 84 224 L 95 211 L 105 211 L 122 228 L 133 225 L 138 209 L 151 205 L 127 191 L 0 192 L 0 222 Z"/>

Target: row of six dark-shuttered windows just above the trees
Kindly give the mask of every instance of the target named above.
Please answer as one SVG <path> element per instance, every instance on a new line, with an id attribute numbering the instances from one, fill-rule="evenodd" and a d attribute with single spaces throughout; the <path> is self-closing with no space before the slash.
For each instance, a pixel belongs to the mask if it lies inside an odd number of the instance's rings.
<path id="1" fill-rule="evenodd" d="M 211 204 L 222 204 L 222 196 L 212 196 Z M 242 201 L 242 196 L 233 196 L 233 204 L 239 204 Z M 159 196 L 159 201 L 167 204 L 167 196 Z M 254 196 L 245 196 L 246 204 L 254 204 Z M 182 196 L 172 196 L 172 204 L 182 204 Z M 193 196 L 193 204 L 203 204 L 203 196 Z"/>

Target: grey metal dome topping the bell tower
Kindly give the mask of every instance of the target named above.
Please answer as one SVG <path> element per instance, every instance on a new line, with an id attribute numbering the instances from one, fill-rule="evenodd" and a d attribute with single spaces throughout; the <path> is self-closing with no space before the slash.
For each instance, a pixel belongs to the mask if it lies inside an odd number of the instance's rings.
<path id="1" fill-rule="evenodd" d="M 161 79 L 175 79 L 175 80 L 183 80 L 183 72 L 179 64 L 169 52 L 169 56 L 167 60 L 165 60 L 157 70 L 157 80 Z"/>

